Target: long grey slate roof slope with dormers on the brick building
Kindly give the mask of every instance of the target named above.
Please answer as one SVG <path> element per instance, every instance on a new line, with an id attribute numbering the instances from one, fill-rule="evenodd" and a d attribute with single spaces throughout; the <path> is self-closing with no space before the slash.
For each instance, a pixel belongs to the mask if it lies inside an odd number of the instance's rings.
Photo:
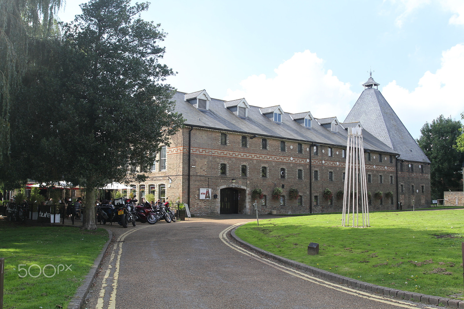
<path id="1" fill-rule="evenodd" d="M 315 124 L 312 128 L 305 128 L 291 118 L 289 113 L 282 115 L 282 122 L 273 122 L 260 113 L 260 108 L 250 105 L 248 117 L 238 117 L 232 111 L 224 108 L 224 101 L 212 99 L 209 110 L 196 109 L 192 104 L 184 101 L 185 93 L 177 91 L 174 94 L 176 112 L 182 113 L 186 119 L 186 126 L 217 129 L 237 132 L 245 135 L 258 135 L 301 142 L 315 142 L 318 144 L 333 145 L 346 148 L 347 130 L 332 132 L 322 125 Z M 273 111 L 278 105 L 266 108 Z M 261 109 L 263 110 L 263 109 Z M 396 154 L 393 149 L 380 142 L 369 132 L 363 131 L 364 148 Z"/>

